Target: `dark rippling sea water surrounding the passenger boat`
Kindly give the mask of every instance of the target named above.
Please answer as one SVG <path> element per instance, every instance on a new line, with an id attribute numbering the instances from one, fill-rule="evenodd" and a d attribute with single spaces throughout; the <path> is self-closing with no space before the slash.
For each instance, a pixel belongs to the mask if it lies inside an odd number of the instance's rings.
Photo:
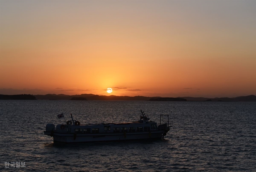
<path id="1" fill-rule="evenodd" d="M 57 146 L 43 133 L 70 114 L 81 124 L 128 122 L 140 110 L 158 123 L 169 115 L 164 139 Z M 0 100 L 0 131 L 0 171 L 256 171 L 256 102 Z"/>

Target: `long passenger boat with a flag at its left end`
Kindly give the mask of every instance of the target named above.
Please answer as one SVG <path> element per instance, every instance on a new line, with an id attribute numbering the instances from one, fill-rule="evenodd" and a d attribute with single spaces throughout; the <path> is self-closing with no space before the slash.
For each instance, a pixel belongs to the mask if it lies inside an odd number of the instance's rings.
<path id="1" fill-rule="evenodd" d="M 124 123 L 99 123 L 80 125 L 73 119 L 66 124 L 46 124 L 44 135 L 51 136 L 54 144 L 79 142 L 123 141 L 137 139 L 163 139 L 169 132 L 169 115 L 160 115 L 160 124 L 149 121 L 148 115 L 140 110 L 140 120 Z M 63 116 L 63 114 L 61 115 Z"/>

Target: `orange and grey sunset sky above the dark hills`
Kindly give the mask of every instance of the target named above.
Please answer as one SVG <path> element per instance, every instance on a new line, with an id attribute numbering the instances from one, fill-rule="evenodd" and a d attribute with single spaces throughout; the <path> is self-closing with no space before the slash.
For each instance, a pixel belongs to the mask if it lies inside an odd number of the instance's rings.
<path id="1" fill-rule="evenodd" d="M 0 94 L 48 93 L 256 95 L 256 1 L 0 0 Z"/>

